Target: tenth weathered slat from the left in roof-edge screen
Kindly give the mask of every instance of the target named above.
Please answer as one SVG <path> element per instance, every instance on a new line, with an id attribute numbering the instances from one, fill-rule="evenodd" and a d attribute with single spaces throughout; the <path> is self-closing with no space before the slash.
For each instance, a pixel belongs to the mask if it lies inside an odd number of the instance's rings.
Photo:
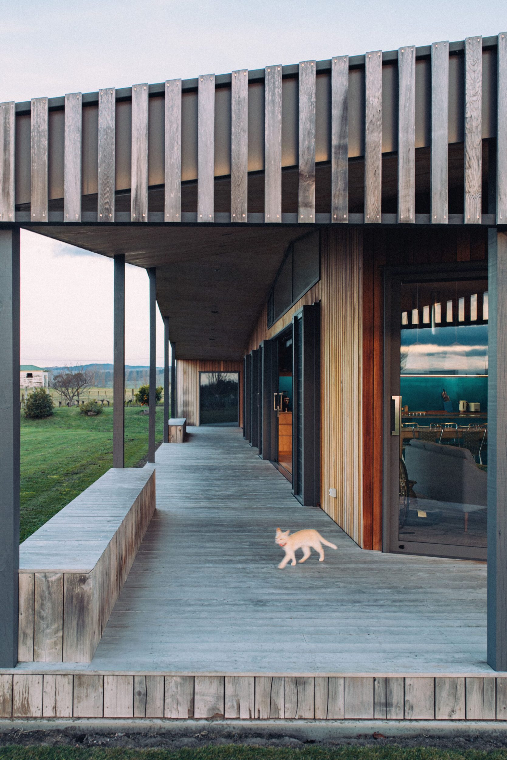
<path id="1" fill-rule="evenodd" d="M 298 222 L 315 221 L 315 61 L 299 64 Z"/>

